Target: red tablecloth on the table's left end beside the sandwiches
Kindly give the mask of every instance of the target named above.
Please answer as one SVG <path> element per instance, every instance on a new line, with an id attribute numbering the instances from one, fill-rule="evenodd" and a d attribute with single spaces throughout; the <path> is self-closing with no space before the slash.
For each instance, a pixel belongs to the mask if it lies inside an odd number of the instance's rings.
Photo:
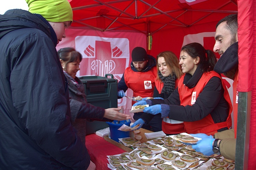
<path id="1" fill-rule="evenodd" d="M 126 152 L 96 134 L 87 135 L 85 141 L 91 161 L 96 165 L 96 170 L 109 169 L 107 165 L 107 155 L 116 155 Z"/>

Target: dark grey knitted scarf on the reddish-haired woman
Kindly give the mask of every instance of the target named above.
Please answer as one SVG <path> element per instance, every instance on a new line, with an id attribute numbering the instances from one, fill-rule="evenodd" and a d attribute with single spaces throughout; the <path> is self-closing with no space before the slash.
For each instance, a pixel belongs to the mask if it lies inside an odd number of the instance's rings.
<path id="1" fill-rule="evenodd" d="M 175 80 L 177 79 L 176 75 L 172 73 L 172 75 L 169 75 L 168 77 L 163 77 L 163 75 L 159 71 L 158 76 L 163 82 L 161 94 L 166 93 L 169 96 L 175 90 Z"/>

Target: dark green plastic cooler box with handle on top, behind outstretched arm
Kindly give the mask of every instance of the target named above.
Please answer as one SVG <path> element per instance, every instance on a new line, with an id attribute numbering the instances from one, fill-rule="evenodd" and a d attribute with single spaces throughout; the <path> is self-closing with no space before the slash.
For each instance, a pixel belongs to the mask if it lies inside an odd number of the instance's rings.
<path id="1" fill-rule="evenodd" d="M 111 78 L 108 78 L 110 76 Z M 117 107 L 117 80 L 113 74 L 100 76 L 81 76 L 79 79 L 84 84 L 87 102 L 104 109 Z M 109 127 L 106 122 L 86 121 L 86 135 L 93 134 L 97 130 Z"/>

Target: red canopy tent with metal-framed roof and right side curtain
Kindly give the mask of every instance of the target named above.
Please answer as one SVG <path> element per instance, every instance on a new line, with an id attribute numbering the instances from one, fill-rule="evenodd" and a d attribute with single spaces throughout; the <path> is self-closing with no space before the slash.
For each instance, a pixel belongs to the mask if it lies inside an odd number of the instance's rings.
<path id="1" fill-rule="evenodd" d="M 238 91 L 245 93 L 246 109 L 244 132 L 238 132 L 243 147 L 237 152 L 236 165 L 244 169 L 255 169 L 256 162 L 256 95 L 255 95 L 255 9 L 251 0 L 69 0 L 73 9 L 72 27 L 92 28 L 102 32 L 135 31 L 146 35 L 148 53 L 156 56 L 160 51 L 170 50 L 177 55 L 182 47 L 183 37 L 189 29 L 209 27 L 215 31 L 217 21 L 238 13 L 239 38 L 239 84 Z M 206 41 L 206 40 L 205 40 Z M 213 48 L 214 39 L 209 39 Z M 179 48 L 171 48 L 178 44 Z M 177 55 L 178 56 L 178 55 Z M 242 96 L 241 95 L 241 96 Z M 240 94 L 239 94 L 240 96 Z M 242 98 L 242 97 L 241 97 Z M 252 102 L 250 102 L 252 101 Z M 239 104 L 243 101 L 240 101 Z M 240 107 L 241 108 L 241 107 Z M 251 121 L 251 122 L 250 122 Z M 250 133 L 249 133 L 250 132 Z M 250 143 L 250 145 L 249 145 Z M 238 145 L 238 144 L 237 144 Z M 250 148 L 249 148 L 250 146 Z M 239 150 L 237 146 L 237 151 Z M 239 155 L 239 156 L 238 156 Z M 239 159 L 238 157 L 241 157 Z M 248 165 L 248 167 L 247 167 Z M 236 168 L 237 169 L 237 168 Z"/>

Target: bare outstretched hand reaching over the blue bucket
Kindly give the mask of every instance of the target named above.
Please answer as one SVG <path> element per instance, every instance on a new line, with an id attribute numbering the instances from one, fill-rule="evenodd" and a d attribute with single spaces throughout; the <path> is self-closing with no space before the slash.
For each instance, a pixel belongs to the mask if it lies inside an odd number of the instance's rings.
<path id="1" fill-rule="evenodd" d="M 122 106 L 118 108 L 105 109 L 104 118 L 107 118 L 110 120 L 119 120 L 119 121 L 131 119 L 130 115 L 119 112 L 121 109 L 122 109 Z"/>

